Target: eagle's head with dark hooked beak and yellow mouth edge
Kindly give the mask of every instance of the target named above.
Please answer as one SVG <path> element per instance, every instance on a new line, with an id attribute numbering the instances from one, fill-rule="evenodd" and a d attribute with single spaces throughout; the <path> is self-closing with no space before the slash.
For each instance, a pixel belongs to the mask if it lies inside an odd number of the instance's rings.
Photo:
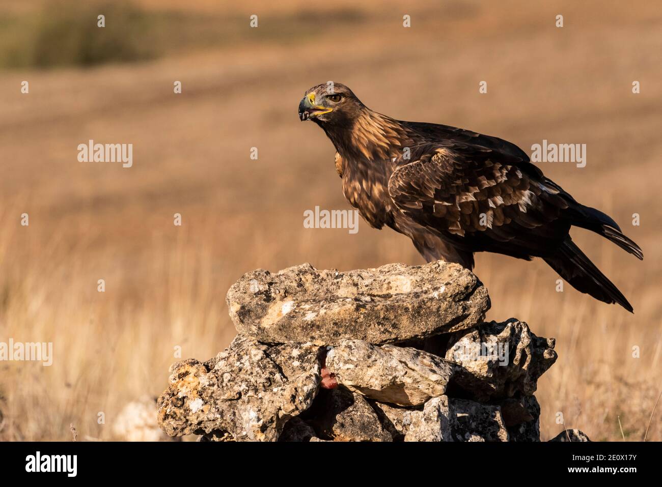
<path id="1" fill-rule="evenodd" d="M 352 90 L 340 83 L 323 83 L 306 91 L 299 103 L 301 121 L 320 126 L 348 126 L 365 109 Z"/>

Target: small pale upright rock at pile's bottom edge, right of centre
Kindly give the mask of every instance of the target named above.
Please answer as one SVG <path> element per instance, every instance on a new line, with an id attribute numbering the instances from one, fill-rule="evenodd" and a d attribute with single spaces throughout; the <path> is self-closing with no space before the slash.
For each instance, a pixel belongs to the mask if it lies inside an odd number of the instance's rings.
<path id="1" fill-rule="evenodd" d="M 408 416 L 404 441 L 453 441 L 453 418 L 447 396 L 430 399 L 422 411 L 409 412 Z"/>

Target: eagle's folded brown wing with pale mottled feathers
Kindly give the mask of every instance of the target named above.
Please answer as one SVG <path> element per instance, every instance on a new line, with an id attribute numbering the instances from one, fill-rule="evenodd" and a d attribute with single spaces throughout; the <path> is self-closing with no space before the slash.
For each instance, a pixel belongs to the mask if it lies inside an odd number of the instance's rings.
<path id="1" fill-rule="evenodd" d="M 461 249 L 529 259 L 567 236 L 569 195 L 517 154 L 446 142 L 416 146 L 396 163 L 389 195 L 397 208 Z"/>

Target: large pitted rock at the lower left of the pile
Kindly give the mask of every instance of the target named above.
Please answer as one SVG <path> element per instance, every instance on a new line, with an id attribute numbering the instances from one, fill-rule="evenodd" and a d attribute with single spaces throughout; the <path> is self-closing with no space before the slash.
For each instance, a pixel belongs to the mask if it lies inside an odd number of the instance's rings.
<path id="1" fill-rule="evenodd" d="M 227 431 L 236 441 L 275 441 L 283 425 L 307 410 L 318 390 L 318 347 L 269 347 L 238 336 L 206 363 L 170 367 L 158 421 L 171 436 Z"/>

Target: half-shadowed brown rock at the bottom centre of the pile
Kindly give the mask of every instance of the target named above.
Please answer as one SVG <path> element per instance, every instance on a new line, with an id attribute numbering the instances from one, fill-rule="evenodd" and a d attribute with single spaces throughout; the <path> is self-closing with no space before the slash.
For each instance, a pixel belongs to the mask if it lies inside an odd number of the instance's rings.
<path id="1" fill-rule="evenodd" d="M 313 423 L 318 437 L 334 441 L 393 441 L 361 394 L 340 386 L 320 390 L 317 401 L 320 415 Z"/>

